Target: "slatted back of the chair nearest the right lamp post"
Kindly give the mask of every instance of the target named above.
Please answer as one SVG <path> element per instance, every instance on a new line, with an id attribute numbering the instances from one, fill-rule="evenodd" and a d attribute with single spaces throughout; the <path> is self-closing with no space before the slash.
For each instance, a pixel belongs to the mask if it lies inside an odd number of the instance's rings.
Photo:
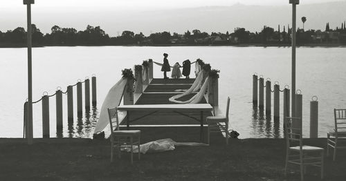
<path id="1" fill-rule="evenodd" d="M 293 142 L 299 142 L 300 151 L 302 151 L 302 129 L 293 128 L 293 122 L 299 122 L 300 117 L 286 117 L 285 136 L 286 149 L 292 146 Z M 295 144 L 297 145 L 297 144 Z"/>

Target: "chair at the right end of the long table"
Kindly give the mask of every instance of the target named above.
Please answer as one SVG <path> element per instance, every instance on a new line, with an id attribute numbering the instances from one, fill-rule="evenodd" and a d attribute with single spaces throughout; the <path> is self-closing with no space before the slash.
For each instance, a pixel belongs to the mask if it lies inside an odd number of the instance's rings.
<path id="1" fill-rule="evenodd" d="M 230 108 L 230 97 L 227 98 L 226 116 L 214 115 L 208 116 L 206 122 L 208 124 L 208 144 L 210 144 L 210 133 L 225 133 L 226 144 L 228 144 L 228 112 Z"/>

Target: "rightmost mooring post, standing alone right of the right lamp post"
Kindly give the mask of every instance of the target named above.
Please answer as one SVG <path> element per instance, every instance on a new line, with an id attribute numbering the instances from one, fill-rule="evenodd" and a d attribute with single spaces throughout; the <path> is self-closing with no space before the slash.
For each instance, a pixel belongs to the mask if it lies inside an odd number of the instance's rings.
<path id="1" fill-rule="evenodd" d="M 310 102 L 310 138 L 318 137 L 318 101 L 313 96 Z"/>

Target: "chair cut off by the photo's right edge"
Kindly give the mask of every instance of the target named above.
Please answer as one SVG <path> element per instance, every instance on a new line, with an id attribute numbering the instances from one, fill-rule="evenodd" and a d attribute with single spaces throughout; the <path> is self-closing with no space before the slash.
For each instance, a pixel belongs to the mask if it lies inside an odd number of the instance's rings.
<path id="1" fill-rule="evenodd" d="M 327 156 L 329 155 L 329 147 L 333 148 L 333 160 L 335 161 L 336 150 L 346 149 L 346 109 L 334 108 L 334 124 L 334 131 L 327 133 Z"/>

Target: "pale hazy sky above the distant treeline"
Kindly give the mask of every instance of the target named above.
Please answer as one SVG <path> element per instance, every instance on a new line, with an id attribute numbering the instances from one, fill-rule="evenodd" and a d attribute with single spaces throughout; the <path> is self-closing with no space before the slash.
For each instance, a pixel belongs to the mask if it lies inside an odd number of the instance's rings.
<path id="1" fill-rule="evenodd" d="M 346 0 L 300 0 L 301 6 L 298 7 L 309 5 L 310 3 L 334 1 L 346 2 Z M 257 19 L 251 19 L 250 17 L 254 15 L 248 12 L 244 15 L 248 18 L 246 21 L 228 21 L 228 19 L 232 19 L 232 17 L 228 17 L 226 25 L 220 26 L 219 23 L 213 27 L 210 22 L 212 23 L 212 18 L 214 16 L 217 17 L 217 15 L 208 14 L 210 15 L 208 24 L 205 23 L 205 26 L 203 26 L 203 19 L 197 19 L 199 23 L 191 22 L 194 21 L 193 19 L 191 20 L 191 17 L 198 13 L 195 10 L 191 10 L 190 14 L 181 14 L 180 17 L 179 12 L 181 11 L 177 10 L 181 8 L 233 6 L 239 3 L 248 6 L 284 6 L 283 10 L 286 18 L 275 18 L 269 15 L 265 19 L 260 19 L 259 16 L 255 15 Z M 32 22 L 44 33 L 51 32 L 51 27 L 54 25 L 62 28 L 84 30 L 86 25 L 90 24 L 91 26 L 101 26 L 111 36 L 121 34 L 124 30 L 131 30 L 137 33 L 143 32 L 145 35 L 149 35 L 151 32 L 161 32 L 163 30 L 182 33 L 185 30 L 199 28 L 210 33 L 212 31 L 224 32 L 233 30 L 233 28 L 239 26 L 251 31 L 257 31 L 264 24 L 277 26 L 277 23 L 289 23 L 289 13 L 291 13 L 289 7 L 289 0 L 35 0 L 32 8 Z M 276 9 L 281 10 L 282 7 Z M 174 10 L 177 11 L 174 12 Z M 298 8 L 298 13 L 301 12 Z M 261 16 L 263 14 L 265 12 L 261 12 Z M 316 20 L 311 19 L 311 16 L 315 16 Z M 311 16 L 308 17 L 308 23 L 311 23 L 311 28 L 316 29 L 325 26 L 322 23 L 318 24 L 318 26 L 312 25 L 313 21 L 318 21 L 318 16 L 324 16 L 323 14 L 316 16 L 315 13 L 311 14 Z M 343 21 L 343 19 L 338 19 L 340 16 L 342 17 L 342 15 L 331 15 L 326 21 L 336 19 L 336 23 L 339 23 L 339 20 Z M 178 17 L 181 21 L 179 21 Z M 217 18 L 214 19 L 217 21 Z M 174 21 L 176 24 L 172 24 L 170 21 Z M 260 23 L 255 24 L 256 21 L 260 21 Z M 325 20 L 323 19 L 323 21 Z M 307 26 L 309 26 L 308 23 Z M 0 0 L 0 31 L 6 32 L 17 27 L 26 27 L 26 6 L 23 5 L 23 0 Z"/>

